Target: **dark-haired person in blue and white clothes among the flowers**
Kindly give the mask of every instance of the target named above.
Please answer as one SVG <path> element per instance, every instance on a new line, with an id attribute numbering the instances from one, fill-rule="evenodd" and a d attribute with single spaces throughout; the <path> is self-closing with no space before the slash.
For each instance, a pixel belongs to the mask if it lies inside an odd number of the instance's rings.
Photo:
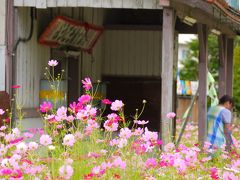
<path id="1" fill-rule="evenodd" d="M 222 148 L 226 144 L 226 150 L 231 150 L 232 138 L 232 113 L 233 98 L 224 95 L 219 99 L 217 106 L 210 107 L 207 113 L 207 137 L 211 143 L 210 148 Z"/>

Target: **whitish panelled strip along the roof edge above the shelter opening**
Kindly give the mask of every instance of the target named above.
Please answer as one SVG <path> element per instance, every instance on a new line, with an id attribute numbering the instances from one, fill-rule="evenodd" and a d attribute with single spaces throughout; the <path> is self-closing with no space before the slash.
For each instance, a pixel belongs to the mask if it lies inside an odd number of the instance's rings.
<path id="1" fill-rule="evenodd" d="M 159 0 L 14 0 L 14 6 L 161 9 Z"/>

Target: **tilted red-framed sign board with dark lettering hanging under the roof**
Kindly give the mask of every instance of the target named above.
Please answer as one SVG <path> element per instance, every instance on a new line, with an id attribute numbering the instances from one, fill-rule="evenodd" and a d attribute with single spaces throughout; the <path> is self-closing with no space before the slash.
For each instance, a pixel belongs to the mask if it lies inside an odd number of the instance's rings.
<path id="1" fill-rule="evenodd" d="M 40 36 L 39 43 L 50 47 L 66 47 L 91 53 L 103 27 L 57 16 Z"/>

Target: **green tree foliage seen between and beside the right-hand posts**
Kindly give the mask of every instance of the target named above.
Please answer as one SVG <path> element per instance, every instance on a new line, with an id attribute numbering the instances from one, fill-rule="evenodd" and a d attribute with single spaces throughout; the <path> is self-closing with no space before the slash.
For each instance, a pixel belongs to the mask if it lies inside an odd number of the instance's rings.
<path id="1" fill-rule="evenodd" d="M 187 58 L 183 61 L 183 68 L 180 70 L 180 79 L 182 80 L 198 80 L 198 56 L 199 42 L 194 39 L 188 43 L 189 51 Z M 216 82 L 218 81 L 219 69 L 219 46 L 218 37 L 209 35 L 208 37 L 208 70 L 212 73 Z M 235 39 L 234 43 L 234 81 L 233 81 L 233 97 L 235 99 L 235 108 L 240 114 L 240 37 Z"/>

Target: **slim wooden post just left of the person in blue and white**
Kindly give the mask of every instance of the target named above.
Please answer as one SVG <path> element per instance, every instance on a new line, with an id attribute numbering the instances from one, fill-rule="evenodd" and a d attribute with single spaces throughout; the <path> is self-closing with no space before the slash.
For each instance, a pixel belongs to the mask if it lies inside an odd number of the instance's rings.
<path id="1" fill-rule="evenodd" d="M 207 128 L 207 26 L 198 24 L 199 38 L 199 96 L 198 96 L 198 141 L 203 145 Z"/>

